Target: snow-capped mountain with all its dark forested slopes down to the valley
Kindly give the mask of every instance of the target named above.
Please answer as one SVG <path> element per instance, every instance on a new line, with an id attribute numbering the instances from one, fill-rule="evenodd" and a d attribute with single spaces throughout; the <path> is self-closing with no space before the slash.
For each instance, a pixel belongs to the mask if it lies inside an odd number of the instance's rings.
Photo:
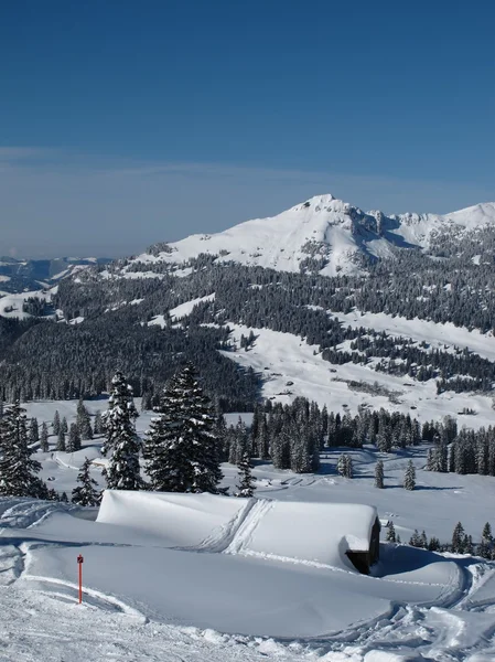
<path id="1" fill-rule="evenodd" d="M 494 203 L 386 215 L 321 195 L 115 261 L 6 258 L 4 397 L 99 395 L 119 367 L 149 399 L 191 360 L 225 410 L 304 395 L 481 416 L 494 257 Z"/>

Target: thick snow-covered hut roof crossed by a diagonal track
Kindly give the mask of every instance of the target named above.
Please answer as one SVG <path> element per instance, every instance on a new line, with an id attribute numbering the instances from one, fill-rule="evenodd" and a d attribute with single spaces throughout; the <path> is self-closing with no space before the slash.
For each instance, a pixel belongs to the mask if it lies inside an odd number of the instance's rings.
<path id="1" fill-rule="evenodd" d="M 346 552 L 368 551 L 376 517 L 372 505 L 107 490 L 97 521 L 166 547 L 349 570 Z"/>

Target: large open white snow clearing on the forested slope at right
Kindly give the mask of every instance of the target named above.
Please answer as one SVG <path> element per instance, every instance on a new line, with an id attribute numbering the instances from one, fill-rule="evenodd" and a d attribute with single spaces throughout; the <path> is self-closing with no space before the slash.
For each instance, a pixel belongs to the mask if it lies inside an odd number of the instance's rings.
<path id="1" fill-rule="evenodd" d="M 357 318 L 359 320 L 361 318 Z M 246 352 L 222 351 L 224 356 L 243 366 L 250 366 L 263 378 L 262 396 L 277 402 L 289 403 L 303 395 L 315 401 L 329 412 L 349 410 L 357 413 L 359 405 L 372 409 L 384 407 L 390 412 L 410 414 L 421 423 L 440 420 L 444 416 L 458 417 L 460 427 L 477 429 L 493 425 L 493 398 L 483 395 L 445 392 L 437 395 L 434 380 L 416 382 L 407 377 L 397 377 L 375 372 L 368 366 L 346 363 L 334 365 L 324 361 L 316 345 L 305 340 L 269 329 L 251 329 L 229 323 L 232 342 L 239 348 L 240 337 L 250 331 L 257 337 Z M 364 382 L 368 386 L 375 383 L 395 394 L 392 401 L 387 395 L 376 395 L 363 389 L 353 389 L 347 382 Z M 291 384 L 288 384 L 291 382 Z M 464 407 L 476 412 L 475 416 L 458 416 Z"/>

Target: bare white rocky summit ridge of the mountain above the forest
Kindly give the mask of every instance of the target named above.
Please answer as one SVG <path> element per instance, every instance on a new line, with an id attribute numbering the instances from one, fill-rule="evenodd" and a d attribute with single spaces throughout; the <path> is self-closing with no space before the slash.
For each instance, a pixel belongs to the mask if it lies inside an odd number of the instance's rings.
<path id="1" fill-rule="evenodd" d="M 358 207 L 319 195 L 269 218 L 257 218 L 216 234 L 192 235 L 162 250 L 139 255 L 130 264 L 155 261 L 182 265 L 202 253 L 281 271 L 319 270 L 324 276 L 362 268 L 359 257 L 385 258 L 395 247 L 429 248 L 439 235 L 461 241 L 465 233 L 495 228 L 495 203 L 452 214 L 365 213 Z M 143 269 L 146 271 L 146 269 Z M 132 274 L 129 267 L 123 274 Z"/>

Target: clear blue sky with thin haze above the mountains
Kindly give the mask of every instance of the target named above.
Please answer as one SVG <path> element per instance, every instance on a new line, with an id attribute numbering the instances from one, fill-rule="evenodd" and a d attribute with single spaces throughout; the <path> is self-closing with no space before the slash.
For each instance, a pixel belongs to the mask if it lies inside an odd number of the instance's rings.
<path id="1" fill-rule="evenodd" d="M 495 3 L 0 4 L 0 254 L 495 200 Z"/>

